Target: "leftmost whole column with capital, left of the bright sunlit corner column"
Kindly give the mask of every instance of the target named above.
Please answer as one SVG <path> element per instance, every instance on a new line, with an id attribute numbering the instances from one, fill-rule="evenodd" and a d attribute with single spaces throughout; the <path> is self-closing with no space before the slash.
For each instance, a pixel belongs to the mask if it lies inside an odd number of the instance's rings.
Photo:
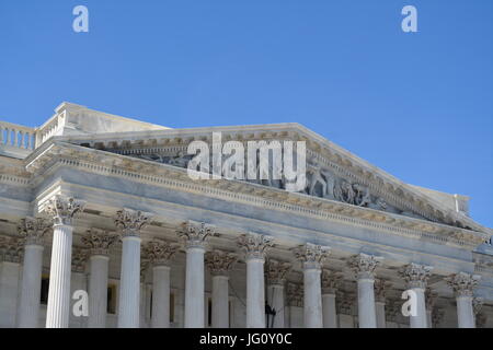
<path id="1" fill-rule="evenodd" d="M 37 328 L 43 272 L 43 237 L 49 230 L 49 222 L 41 218 L 26 218 L 21 220 L 18 230 L 25 241 L 18 327 Z"/>

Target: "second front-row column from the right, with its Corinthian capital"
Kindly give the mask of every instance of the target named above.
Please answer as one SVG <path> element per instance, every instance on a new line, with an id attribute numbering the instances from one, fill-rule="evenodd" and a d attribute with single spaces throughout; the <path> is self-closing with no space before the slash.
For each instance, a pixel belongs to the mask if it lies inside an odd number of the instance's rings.
<path id="1" fill-rule="evenodd" d="M 408 283 L 408 288 L 416 294 L 416 315 L 410 316 L 411 328 L 427 327 L 425 290 L 432 269 L 431 266 L 411 262 L 399 271 L 401 277 Z"/>

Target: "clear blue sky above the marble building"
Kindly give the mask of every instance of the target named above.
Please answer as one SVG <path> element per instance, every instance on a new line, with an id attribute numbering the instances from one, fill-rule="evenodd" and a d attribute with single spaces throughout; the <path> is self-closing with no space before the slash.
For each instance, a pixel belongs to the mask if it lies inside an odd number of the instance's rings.
<path id="1" fill-rule="evenodd" d="M 0 119 L 39 126 L 62 101 L 174 128 L 297 121 L 493 226 L 492 0 L 0 0 Z"/>

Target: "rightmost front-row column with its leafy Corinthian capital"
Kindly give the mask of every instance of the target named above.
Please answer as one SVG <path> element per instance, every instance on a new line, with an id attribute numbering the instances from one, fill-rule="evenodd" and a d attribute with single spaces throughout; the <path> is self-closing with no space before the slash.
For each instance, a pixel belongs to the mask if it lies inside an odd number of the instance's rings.
<path id="1" fill-rule="evenodd" d="M 475 328 L 472 292 L 480 279 L 480 276 L 466 272 L 455 273 L 445 279 L 456 294 L 459 328 Z"/>

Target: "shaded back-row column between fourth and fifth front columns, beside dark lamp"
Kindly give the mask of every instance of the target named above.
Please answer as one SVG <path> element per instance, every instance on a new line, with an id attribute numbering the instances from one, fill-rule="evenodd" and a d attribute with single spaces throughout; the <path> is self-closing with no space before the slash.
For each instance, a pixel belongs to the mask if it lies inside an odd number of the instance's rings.
<path id="1" fill-rule="evenodd" d="M 267 276 L 267 303 L 274 311 L 270 328 L 284 328 L 284 284 L 286 275 L 291 269 L 289 262 L 268 259 L 265 275 Z"/>

